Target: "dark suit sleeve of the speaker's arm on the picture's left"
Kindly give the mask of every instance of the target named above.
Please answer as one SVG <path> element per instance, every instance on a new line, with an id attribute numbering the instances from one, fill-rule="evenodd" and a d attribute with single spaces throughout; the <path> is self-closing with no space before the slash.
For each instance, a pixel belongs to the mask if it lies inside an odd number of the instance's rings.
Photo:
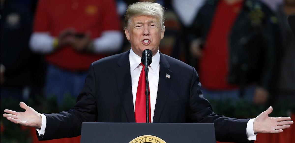
<path id="1" fill-rule="evenodd" d="M 39 140 L 69 138 L 81 134 L 82 122 L 94 122 L 97 118 L 96 81 L 94 65 L 91 64 L 82 91 L 71 110 L 55 114 L 45 114 L 47 124 L 45 134 Z"/>

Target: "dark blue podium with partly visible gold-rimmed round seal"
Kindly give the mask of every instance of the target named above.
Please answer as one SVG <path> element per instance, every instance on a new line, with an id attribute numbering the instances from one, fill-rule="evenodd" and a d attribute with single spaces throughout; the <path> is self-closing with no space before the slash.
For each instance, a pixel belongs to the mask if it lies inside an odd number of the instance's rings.
<path id="1" fill-rule="evenodd" d="M 213 123 L 82 123 L 81 143 L 216 143 Z"/>

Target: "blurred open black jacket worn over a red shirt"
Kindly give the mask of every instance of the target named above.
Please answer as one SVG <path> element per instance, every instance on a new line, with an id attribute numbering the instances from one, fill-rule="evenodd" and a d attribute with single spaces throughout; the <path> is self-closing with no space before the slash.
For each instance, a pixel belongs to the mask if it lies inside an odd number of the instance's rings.
<path id="1" fill-rule="evenodd" d="M 208 0 L 191 26 L 190 39 L 206 41 L 218 0 Z M 262 2 L 243 1 L 229 34 L 227 81 L 240 86 L 257 83 L 271 89 L 276 71 L 280 39 L 277 19 Z"/>

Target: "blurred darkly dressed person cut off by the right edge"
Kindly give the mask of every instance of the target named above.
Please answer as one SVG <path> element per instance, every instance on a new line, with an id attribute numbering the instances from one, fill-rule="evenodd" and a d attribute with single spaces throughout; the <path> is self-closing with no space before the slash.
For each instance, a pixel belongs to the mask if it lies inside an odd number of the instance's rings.
<path id="1" fill-rule="evenodd" d="M 286 100 L 295 101 L 295 36 L 287 22 L 288 15 L 295 15 L 295 0 L 284 0 L 277 12 L 282 41 L 281 55 L 278 55 L 281 57 L 281 67 L 276 97 L 279 98 L 275 98 L 273 101 L 277 104 L 286 104 Z"/>

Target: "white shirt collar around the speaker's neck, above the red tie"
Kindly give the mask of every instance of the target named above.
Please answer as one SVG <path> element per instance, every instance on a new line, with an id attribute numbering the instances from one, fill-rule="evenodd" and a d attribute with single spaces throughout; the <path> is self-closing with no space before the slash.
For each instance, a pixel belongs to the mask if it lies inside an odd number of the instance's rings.
<path id="1" fill-rule="evenodd" d="M 138 65 L 141 63 L 141 57 L 135 54 L 132 49 L 130 49 L 129 53 L 129 62 L 130 62 L 130 69 L 135 70 Z M 160 52 L 158 50 L 157 54 L 153 56 L 152 63 L 149 65 L 153 71 L 156 71 L 160 64 Z"/>

